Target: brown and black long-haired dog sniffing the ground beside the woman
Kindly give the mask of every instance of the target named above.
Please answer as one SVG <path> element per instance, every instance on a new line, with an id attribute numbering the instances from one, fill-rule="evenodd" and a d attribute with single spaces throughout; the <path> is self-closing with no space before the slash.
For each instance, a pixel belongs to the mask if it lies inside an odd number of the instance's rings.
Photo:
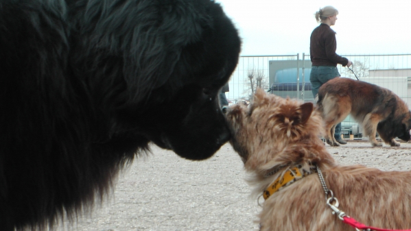
<path id="1" fill-rule="evenodd" d="M 373 146 L 382 146 L 375 139 L 377 132 L 393 147 L 399 146 L 394 140 L 396 137 L 410 141 L 411 112 L 404 101 L 386 88 L 348 78 L 334 78 L 320 87 L 318 110 L 325 121 L 325 139 L 331 146 L 340 146 L 334 138 L 334 130 L 349 114 L 362 123 L 364 134 L 369 136 Z"/>

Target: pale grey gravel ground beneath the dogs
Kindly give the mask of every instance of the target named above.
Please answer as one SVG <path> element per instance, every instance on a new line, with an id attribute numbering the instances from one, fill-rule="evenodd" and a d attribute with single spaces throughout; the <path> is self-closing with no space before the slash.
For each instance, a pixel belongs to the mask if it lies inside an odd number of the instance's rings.
<path id="1" fill-rule="evenodd" d="M 371 147 L 349 142 L 327 148 L 342 165 L 410 170 L 411 143 Z M 231 145 L 209 160 L 193 162 L 152 146 L 121 173 L 106 202 L 74 223 L 56 230 L 258 230 L 260 207 L 250 199 L 242 161 Z"/>

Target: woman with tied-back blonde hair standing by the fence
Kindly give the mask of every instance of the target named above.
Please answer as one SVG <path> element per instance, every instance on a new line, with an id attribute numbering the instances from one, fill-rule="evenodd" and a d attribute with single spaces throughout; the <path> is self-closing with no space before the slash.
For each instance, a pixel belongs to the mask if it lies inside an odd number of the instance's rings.
<path id="1" fill-rule="evenodd" d="M 348 67 L 352 64 L 350 60 L 336 53 L 336 32 L 331 29 L 331 26 L 336 25 L 337 15 L 338 10 L 331 5 L 320 9 L 315 14 L 317 23 L 321 24 L 313 30 L 309 42 L 309 55 L 312 62 L 309 81 L 312 84 L 314 98 L 317 98 L 318 89 L 322 84 L 335 77 L 340 77 L 337 64 Z M 341 123 L 336 125 L 334 136 L 338 143 L 347 144 L 347 141 L 341 138 Z"/>

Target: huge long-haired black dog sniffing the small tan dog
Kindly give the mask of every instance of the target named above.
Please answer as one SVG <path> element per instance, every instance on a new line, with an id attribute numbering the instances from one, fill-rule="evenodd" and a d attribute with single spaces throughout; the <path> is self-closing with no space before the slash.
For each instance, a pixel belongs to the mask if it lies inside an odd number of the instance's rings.
<path id="1" fill-rule="evenodd" d="M 209 158 L 239 49 L 210 0 L 0 0 L 0 229 L 75 217 L 150 142 Z"/>

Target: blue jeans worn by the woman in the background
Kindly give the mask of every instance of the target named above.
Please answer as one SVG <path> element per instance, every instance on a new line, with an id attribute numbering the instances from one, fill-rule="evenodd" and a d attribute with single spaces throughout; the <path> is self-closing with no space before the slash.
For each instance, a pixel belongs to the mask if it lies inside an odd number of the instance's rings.
<path id="1" fill-rule="evenodd" d="M 318 89 L 322 84 L 335 77 L 340 77 L 340 73 L 336 66 L 312 66 L 309 74 L 309 82 L 312 85 L 312 95 L 314 98 L 318 94 Z M 336 133 L 334 133 L 336 140 L 341 138 L 341 123 L 336 125 Z"/>

